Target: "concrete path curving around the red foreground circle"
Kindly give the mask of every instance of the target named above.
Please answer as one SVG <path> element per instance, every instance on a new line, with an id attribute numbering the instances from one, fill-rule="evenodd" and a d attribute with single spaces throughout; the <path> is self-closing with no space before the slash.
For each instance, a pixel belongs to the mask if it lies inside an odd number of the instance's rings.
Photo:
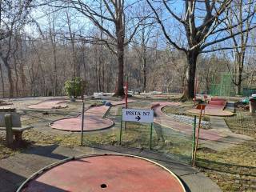
<path id="1" fill-rule="evenodd" d="M 149 158 L 170 169 L 184 182 L 187 191 L 218 192 L 219 187 L 197 169 L 174 161 L 171 157 L 149 150 L 136 150 L 119 146 L 104 149 L 77 146 L 73 149 L 58 145 L 34 146 L 23 153 L 0 160 L 1 192 L 14 192 L 34 172 L 64 158 L 95 153 L 126 153 Z M 152 173 L 153 174 L 153 173 Z"/>

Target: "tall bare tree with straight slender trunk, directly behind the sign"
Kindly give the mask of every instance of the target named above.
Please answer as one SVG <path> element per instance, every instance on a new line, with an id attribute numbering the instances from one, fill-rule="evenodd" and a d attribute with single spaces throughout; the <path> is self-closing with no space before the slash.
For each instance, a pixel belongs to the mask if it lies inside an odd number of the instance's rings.
<path id="1" fill-rule="evenodd" d="M 137 2 L 125 0 L 67 0 L 65 3 L 67 5 L 61 5 L 59 7 L 74 8 L 78 13 L 89 18 L 90 22 L 102 31 L 102 38 L 90 37 L 90 35 L 86 38 L 90 38 L 94 42 L 104 43 L 117 56 L 118 81 L 114 95 L 124 95 L 124 48 L 130 43 L 138 30 L 139 18 L 134 17 L 131 13 L 134 10 L 133 6 Z M 130 25 L 130 21 L 135 24 Z"/>

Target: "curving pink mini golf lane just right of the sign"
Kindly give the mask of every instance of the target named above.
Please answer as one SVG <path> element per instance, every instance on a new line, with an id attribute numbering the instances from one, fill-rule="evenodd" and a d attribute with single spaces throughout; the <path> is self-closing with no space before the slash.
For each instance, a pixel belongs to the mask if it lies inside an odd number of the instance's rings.
<path id="1" fill-rule="evenodd" d="M 175 105 L 175 104 L 174 104 Z M 176 104 L 178 105 L 178 103 Z M 165 104 L 160 104 L 160 106 L 156 106 L 154 108 L 157 117 L 154 118 L 154 122 L 170 127 L 173 130 L 178 130 L 184 134 L 192 135 L 192 126 L 187 125 L 182 122 L 177 122 L 173 118 L 168 117 L 168 115 L 162 112 L 162 107 L 166 106 Z M 217 141 L 218 139 L 222 138 L 222 135 L 217 130 L 200 130 L 199 138 L 204 140 L 211 140 Z"/>

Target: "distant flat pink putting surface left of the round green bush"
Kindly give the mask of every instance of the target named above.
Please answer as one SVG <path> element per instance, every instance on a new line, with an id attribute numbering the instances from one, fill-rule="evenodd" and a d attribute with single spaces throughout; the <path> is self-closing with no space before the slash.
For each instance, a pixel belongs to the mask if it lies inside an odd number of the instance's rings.
<path id="1" fill-rule="evenodd" d="M 37 104 L 27 106 L 30 109 L 35 109 L 35 110 L 54 110 L 54 109 L 59 109 L 59 108 L 65 108 L 66 104 L 63 104 L 63 102 L 66 102 L 65 99 L 62 100 L 46 100 L 43 102 L 38 102 Z"/>

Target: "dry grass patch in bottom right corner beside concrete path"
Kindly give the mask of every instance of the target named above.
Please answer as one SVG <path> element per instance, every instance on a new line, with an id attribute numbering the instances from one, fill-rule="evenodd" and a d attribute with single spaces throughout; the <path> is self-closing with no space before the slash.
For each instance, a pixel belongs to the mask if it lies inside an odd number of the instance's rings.
<path id="1" fill-rule="evenodd" d="M 256 191 L 256 140 L 222 152 L 198 151 L 197 166 L 223 191 Z"/>

